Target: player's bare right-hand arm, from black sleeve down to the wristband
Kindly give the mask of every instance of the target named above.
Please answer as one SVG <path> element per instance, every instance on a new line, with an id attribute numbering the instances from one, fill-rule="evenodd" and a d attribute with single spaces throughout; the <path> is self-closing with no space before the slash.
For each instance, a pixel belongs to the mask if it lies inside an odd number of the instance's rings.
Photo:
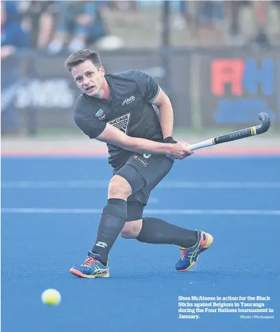
<path id="1" fill-rule="evenodd" d="M 174 112 L 169 97 L 159 86 L 159 94 L 156 96 L 153 105 L 159 108 L 159 121 L 161 123 L 161 130 L 163 132 L 163 139 L 172 137 L 174 125 Z"/>

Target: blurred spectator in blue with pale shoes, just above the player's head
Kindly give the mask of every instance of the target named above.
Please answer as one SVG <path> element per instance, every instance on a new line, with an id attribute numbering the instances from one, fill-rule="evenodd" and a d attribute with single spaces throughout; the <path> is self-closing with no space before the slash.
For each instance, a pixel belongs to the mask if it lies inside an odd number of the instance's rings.
<path id="1" fill-rule="evenodd" d="M 58 26 L 54 38 L 49 43 L 49 53 L 57 54 L 71 40 L 68 49 L 71 52 L 84 49 L 86 43 L 95 43 L 106 36 L 106 29 L 100 13 L 104 1 L 60 1 Z"/>

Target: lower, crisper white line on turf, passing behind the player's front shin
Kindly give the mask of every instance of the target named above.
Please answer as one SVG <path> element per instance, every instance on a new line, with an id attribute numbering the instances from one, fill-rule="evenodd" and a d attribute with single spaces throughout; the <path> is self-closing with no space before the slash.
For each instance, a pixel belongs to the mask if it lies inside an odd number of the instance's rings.
<path id="1" fill-rule="evenodd" d="M 1 213 L 41 213 L 41 214 L 100 214 L 102 209 L 41 209 L 2 208 Z M 147 209 L 149 215 L 280 215 L 280 210 L 188 210 L 188 209 Z"/>

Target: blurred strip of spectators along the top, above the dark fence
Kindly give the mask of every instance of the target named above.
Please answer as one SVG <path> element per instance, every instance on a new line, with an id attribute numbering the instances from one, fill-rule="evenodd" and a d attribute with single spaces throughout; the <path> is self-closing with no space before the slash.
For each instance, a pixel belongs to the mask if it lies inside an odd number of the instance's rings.
<path id="1" fill-rule="evenodd" d="M 14 48 L 49 54 L 159 47 L 163 1 L 2 1 L 1 58 Z M 175 47 L 279 45 L 280 1 L 170 1 Z"/>

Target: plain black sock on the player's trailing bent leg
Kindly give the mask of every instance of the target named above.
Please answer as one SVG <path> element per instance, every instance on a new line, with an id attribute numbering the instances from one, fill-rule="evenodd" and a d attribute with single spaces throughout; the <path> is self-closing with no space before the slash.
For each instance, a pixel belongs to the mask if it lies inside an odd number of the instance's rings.
<path id="1" fill-rule="evenodd" d="M 198 233 L 196 230 L 168 224 L 157 218 L 143 218 L 143 225 L 137 240 L 147 244 L 176 244 L 189 248 L 198 241 Z"/>

